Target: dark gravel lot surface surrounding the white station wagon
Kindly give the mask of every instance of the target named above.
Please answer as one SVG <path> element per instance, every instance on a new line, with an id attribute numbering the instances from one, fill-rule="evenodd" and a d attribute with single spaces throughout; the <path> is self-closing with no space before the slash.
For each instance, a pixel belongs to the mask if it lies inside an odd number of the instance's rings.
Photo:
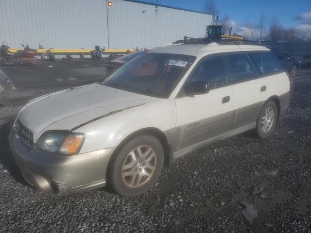
<path id="1" fill-rule="evenodd" d="M 271 138 L 245 133 L 196 150 L 132 199 L 104 189 L 69 197 L 36 191 L 8 149 L 10 122 L 23 104 L 99 80 L 101 63 L 3 71 L 19 92 L 0 99 L 0 232 L 311 232 L 311 69 L 292 80 L 291 105 Z"/>

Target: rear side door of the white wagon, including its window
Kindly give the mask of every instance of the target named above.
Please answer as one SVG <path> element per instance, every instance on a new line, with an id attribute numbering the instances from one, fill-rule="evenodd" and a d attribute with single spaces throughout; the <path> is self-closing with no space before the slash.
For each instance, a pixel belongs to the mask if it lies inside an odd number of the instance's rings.
<path id="1" fill-rule="evenodd" d="M 262 102 L 267 100 L 267 83 L 259 76 L 260 67 L 255 68 L 247 53 L 225 55 L 228 81 L 233 90 L 232 129 L 255 126 Z"/>

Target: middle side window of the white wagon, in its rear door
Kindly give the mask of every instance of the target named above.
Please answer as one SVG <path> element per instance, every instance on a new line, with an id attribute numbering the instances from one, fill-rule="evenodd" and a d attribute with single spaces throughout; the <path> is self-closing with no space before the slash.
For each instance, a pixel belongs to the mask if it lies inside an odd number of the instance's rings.
<path id="1" fill-rule="evenodd" d="M 237 83 L 255 78 L 257 76 L 254 67 L 246 54 L 233 53 L 226 55 L 229 68 L 230 83 Z"/>

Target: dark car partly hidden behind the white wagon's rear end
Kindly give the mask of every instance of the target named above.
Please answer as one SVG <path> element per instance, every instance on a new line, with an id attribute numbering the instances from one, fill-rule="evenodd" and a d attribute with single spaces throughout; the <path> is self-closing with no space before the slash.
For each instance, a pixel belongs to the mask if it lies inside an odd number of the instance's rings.
<path id="1" fill-rule="evenodd" d="M 300 68 L 301 62 L 290 55 L 280 52 L 276 49 L 270 49 L 276 55 L 282 67 L 291 75 L 296 76 L 298 69 Z"/>

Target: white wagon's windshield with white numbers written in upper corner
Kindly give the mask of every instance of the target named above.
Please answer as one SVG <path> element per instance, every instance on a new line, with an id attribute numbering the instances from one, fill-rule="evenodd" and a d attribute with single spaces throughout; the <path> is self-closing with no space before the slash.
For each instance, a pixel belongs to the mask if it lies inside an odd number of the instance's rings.
<path id="1" fill-rule="evenodd" d="M 194 57 L 145 53 L 130 61 L 102 83 L 106 86 L 158 98 L 168 98 L 189 69 Z"/>

